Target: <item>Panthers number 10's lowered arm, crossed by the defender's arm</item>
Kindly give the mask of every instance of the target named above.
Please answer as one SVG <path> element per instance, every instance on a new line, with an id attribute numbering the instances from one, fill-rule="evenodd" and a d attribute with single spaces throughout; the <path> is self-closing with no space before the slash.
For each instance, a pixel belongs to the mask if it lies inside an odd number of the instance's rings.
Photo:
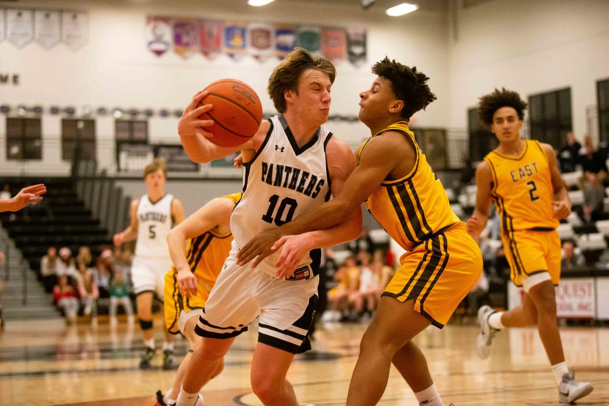
<path id="1" fill-rule="evenodd" d="M 328 142 L 326 156 L 332 195 L 337 196 L 356 167 L 355 156 L 349 146 L 336 136 L 333 136 Z M 336 225 L 295 236 L 282 237 L 271 248 L 273 251 L 281 248 L 281 256 L 275 264 L 277 267 L 275 276 L 280 279 L 289 278 L 309 251 L 315 248 L 333 247 L 354 240 L 360 234 L 362 234 L 362 211 L 359 205 L 356 205 L 348 217 Z"/>

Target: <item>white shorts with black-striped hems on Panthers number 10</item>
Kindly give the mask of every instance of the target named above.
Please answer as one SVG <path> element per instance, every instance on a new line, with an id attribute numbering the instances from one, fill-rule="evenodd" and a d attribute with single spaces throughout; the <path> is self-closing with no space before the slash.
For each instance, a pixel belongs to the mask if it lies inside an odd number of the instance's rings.
<path id="1" fill-rule="evenodd" d="M 195 332 L 209 338 L 236 337 L 259 316 L 258 342 L 292 354 L 309 349 L 306 334 L 317 307 L 319 276 L 279 279 L 250 264 L 239 267 L 233 254 L 209 294 Z"/>

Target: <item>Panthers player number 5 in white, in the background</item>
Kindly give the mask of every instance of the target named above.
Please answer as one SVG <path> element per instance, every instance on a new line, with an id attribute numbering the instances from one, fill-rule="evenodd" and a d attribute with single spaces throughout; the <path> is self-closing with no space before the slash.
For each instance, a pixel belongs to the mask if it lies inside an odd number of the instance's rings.
<path id="1" fill-rule="evenodd" d="M 131 202 L 131 223 L 122 233 L 114 234 L 113 238 L 117 246 L 136 239 L 131 277 L 146 346 L 139 363 L 143 369 L 150 368 L 150 361 L 156 354 L 152 337 L 152 301 L 155 295 L 163 301 L 165 273 L 171 268 L 167 233 L 174 223 L 179 224 L 184 220 L 180 201 L 164 192 L 166 180 L 165 159 L 156 158 L 144 169 L 148 193 Z M 163 331 L 163 368 L 170 369 L 173 366 L 173 337 L 166 329 Z"/>

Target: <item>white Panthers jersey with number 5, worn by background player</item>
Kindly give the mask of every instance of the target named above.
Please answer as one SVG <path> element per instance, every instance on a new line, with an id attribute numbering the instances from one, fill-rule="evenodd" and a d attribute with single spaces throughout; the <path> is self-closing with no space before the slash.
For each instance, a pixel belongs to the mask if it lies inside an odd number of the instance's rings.
<path id="1" fill-rule="evenodd" d="M 173 225 L 171 217 L 172 195 L 164 195 L 161 200 L 152 203 L 148 195 L 139 198 L 138 203 L 138 239 L 135 243 L 135 254 L 139 257 L 168 257 L 167 233 Z"/>

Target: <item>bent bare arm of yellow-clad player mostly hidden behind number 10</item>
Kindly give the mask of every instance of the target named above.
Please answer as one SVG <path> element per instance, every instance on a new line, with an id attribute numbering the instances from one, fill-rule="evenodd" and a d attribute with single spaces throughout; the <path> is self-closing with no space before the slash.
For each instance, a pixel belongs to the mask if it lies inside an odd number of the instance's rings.
<path id="1" fill-rule="evenodd" d="M 188 259 L 186 259 L 186 241 L 223 223 L 228 225 L 233 208 L 232 200 L 214 198 L 167 233 L 169 256 L 178 273 L 178 289 L 181 296 L 190 297 L 197 294 L 197 277 L 192 273 Z"/>

